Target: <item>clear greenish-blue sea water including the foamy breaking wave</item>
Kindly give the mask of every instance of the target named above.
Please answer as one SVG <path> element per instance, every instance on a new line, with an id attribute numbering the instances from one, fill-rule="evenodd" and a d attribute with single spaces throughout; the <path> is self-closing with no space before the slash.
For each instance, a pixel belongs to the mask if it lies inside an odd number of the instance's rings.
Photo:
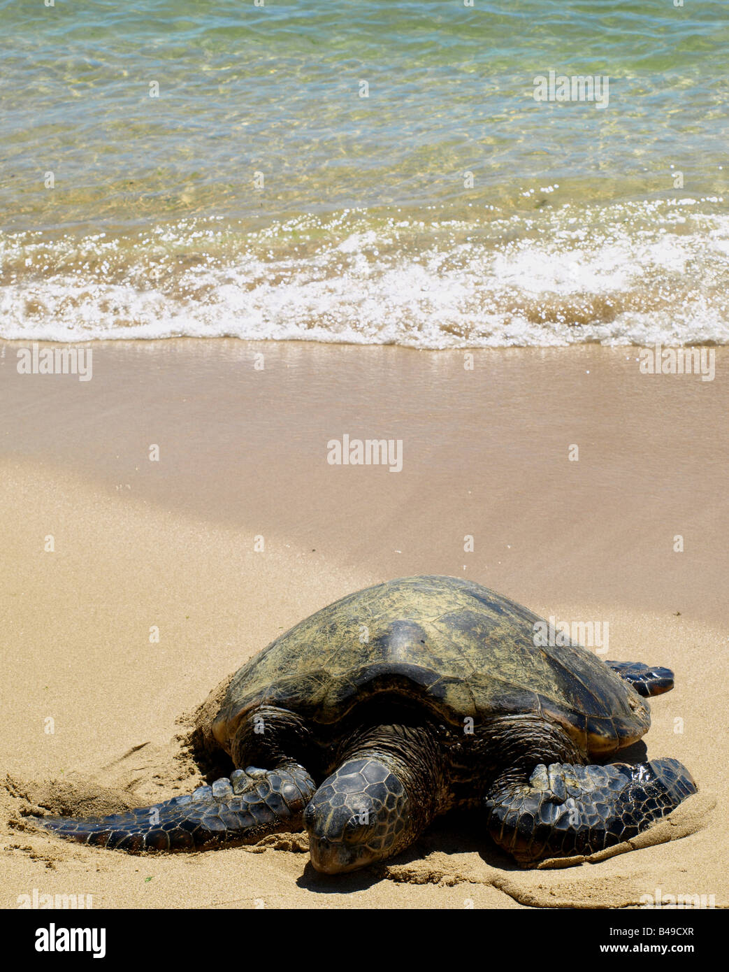
<path id="1" fill-rule="evenodd" d="M 724 3 L 0 17 L 4 336 L 729 340 Z"/>

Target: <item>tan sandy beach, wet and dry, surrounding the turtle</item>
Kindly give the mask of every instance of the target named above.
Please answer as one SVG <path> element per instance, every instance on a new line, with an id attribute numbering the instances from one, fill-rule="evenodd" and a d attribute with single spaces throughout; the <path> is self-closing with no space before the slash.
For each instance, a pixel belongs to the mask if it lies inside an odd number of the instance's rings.
<path id="1" fill-rule="evenodd" d="M 702 382 L 642 375 L 632 349 L 479 351 L 467 370 L 461 352 L 110 342 L 79 382 L 18 375 L 17 347 L 0 345 L 0 904 L 595 908 L 660 888 L 726 905 L 726 351 Z M 402 439 L 402 471 L 331 467 L 345 433 Z M 699 793 L 639 850 L 526 871 L 477 815 L 340 878 L 301 836 L 134 857 L 23 822 L 189 791 L 184 713 L 301 617 L 409 573 L 608 622 L 608 657 L 673 668 L 644 746 Z"/>

